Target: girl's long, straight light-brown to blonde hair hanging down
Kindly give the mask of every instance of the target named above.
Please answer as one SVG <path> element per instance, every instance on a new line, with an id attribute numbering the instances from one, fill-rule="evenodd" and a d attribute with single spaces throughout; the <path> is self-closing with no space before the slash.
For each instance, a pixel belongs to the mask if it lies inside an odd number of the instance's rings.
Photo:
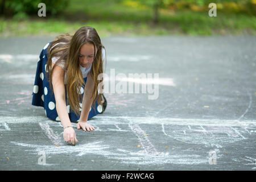
<path id="1" fill-rule="evenodd" d="M 60 43 L 60 44 L 57 44 Z M 67 90 L 67 101 L 70 105 L 70 108 L 77 114 L 80 115 L 80 101 L 81 95 L 79 90 L 85 85 L 84 78 L 82 77 L 82 73 L 79 65 L 79 53 L 81 47 L 86 44 L 92 44 L 94 47 L 94 60 L 92 63 L 92 68 L 90 70 L 90 76 L 92 76 L 94 81 L 93 88 L 93 103 L 96 103 L 98 96 L 98 104 L 101 104 L 101 95 L 102 92 L 98 93 L 98 84 L 100 84 L 102 80 L 98 80 L 98 75 L 103 73 L 103 63 L 102 63 L 102 48 L 105 47 L 101 44 L 100 36 L 98 36 L 95 28 L 92 27 L 81 27 L 76 31 L 75 35 L 71 36 L 69 34 L 61 34 L 57 36 L 56 39 L 51 43 L 48 47 L 48 61 L 46 66 L 46 73 L 48 72 L 48 81 L 52 83 L 52 71 L 55 68 L 51 68 L 52 57 L 56 56 L 59 59 L 56 61 L 65 60 L 65 69 L 67 71 L 67 76 L 65 78 L 65 89 Z M 97 53 L 96 53 L 97 49 Z M 51 89 L 52 84 L 50 84 Z M 103 88 L 102 88 L 103 89 Z M 85 93 L 85 92 L 84 92 Z M 95 109 L 95 108 L 94 108 Z"/>

